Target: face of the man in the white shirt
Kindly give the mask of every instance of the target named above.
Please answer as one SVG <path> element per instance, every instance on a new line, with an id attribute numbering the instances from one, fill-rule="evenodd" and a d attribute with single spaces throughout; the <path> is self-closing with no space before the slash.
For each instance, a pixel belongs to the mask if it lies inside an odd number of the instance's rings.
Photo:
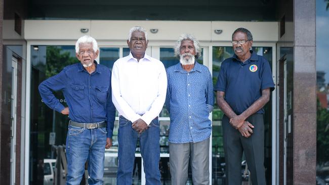
<path id="1" fill-rule="evenodd" d="M 127 40 L 130 52 L 134 57 L 144 57 L 148 40 L 146 40 L 145 33 L 141 31 L 134 31 L 130 40 Z"/>

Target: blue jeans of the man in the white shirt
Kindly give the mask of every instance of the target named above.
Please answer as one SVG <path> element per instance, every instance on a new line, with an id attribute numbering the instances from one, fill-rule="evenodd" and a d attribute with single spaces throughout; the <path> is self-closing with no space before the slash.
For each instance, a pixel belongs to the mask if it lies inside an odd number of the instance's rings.
<path id="1" fill-rule="evenodd" d="M 153 119 L 150 127 L 139 134 L 132 127 L 132 122 L 119 117 L 118 130 L 118 170 L 116 184 L 131 185 L 135 161 L 135 151 L 139 140 L 146 185 L 161 184 L 160 181 L 160 129 L 159 120 Z"/>

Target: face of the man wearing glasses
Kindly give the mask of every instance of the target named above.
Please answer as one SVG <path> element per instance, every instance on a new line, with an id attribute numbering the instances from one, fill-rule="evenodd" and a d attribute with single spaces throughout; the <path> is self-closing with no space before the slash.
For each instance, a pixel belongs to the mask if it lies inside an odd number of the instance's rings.
<path id="1" fill-rule="evenodd" d="M 233 35 L 233 40 L 234 41 L 248 40 L 248 36 L 246 35 L 246 33 L 236 32 Z M 238 57 L 238 59 L 249 58 L 250 57 L 249 50 L 252 48 L 252 46 L 253 46 L 253 41 L 249 40 L 246 41 L 244 44 L 240 44 L 240 43 L 234 44 L 233 50 L 235 55 Z"/>

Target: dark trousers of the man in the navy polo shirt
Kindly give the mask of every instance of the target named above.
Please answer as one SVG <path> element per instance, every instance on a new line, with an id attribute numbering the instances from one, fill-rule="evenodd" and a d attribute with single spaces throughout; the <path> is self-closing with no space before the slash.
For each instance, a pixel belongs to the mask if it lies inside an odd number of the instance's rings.
<path id="1" fill-rule="evenodd" d="M 264 120 L 262 114 L 247 118 L 253 128 L 252 135 L 243 137 L 239 130 L 232 127 L 226 115 L 223 116 L 223 141 L 225 152 L 226 184 L 241 184 L 241 159 L 244 151 L 253 185 L 266 184 L 264 168 Z"/>

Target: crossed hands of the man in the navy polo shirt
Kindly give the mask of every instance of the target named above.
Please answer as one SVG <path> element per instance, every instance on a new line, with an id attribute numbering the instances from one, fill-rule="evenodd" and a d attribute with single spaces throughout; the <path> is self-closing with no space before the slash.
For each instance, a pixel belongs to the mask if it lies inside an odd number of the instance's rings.
<path id="1" fill-rule="evenodd" d="M 252 128 L 254 128 L 254 125 L 252 125 L 249 121 L 244 120 L 240 115 L 231 117 L 230 124 L 235 129 L 238 129 L 244 137 L 250 137 L 253 133 Z"/>

